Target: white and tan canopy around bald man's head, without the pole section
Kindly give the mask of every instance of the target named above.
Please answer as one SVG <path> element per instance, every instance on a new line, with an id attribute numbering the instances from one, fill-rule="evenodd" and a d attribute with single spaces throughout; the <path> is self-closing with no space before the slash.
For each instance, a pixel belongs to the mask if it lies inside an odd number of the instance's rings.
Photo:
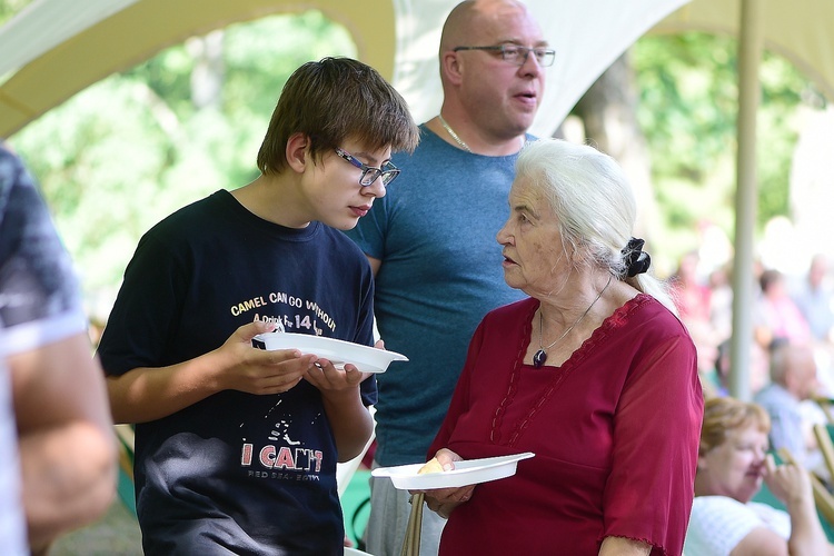
<path id="1" fill-rule="evenodd" d="M 0 28 L 0 137 L 188 37 L 306 9 L 319 9 L 344 24 L 358 58 L 390 79 L 423 121 L 440 107 L 437 46 L 443 22 L 458 1 L 36 0 Z M 685 0 L 526 3 L 557 52 L 533 129 L 546 136 L 628 46 Z"/>

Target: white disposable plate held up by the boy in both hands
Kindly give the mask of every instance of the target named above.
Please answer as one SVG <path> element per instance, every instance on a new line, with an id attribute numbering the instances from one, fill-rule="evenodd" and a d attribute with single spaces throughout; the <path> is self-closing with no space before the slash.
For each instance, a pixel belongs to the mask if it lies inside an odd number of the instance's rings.
<path id="1" fill-rule="evenodd" d="M 386 351 L 360 344 L 314 336 L 310 334 L 267 332 L 252 339 L 261 349 L 298 349 L 304 354 L 316 354 L 337 367 L 346 363 L 356 365 L 363 373 L 385 373 L 391 361 L 407 361 L 408 357 L 396 351 Z"/>

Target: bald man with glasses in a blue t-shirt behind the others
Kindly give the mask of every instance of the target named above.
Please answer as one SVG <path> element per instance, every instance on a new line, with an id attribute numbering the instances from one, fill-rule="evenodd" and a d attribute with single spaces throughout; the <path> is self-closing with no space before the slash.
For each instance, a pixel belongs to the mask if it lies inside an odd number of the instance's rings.
<path id="1" fill-rule="evenodd" d="M 475 327 L 522 296 L 504 282 L 495 234 L 554 58 L 522 2 L 456 6 L 440 39 L 440 113 L 414 155 L 394 157 L 399 180 L 347 232 L 375 271 L 386 348 L 410 359 L 378 376 L 377 466 L 430 456 Z M 374 479 L 367 550 L 398 555 L 408 513 L 408 493 Z M 426 513 L 421 554 L 437 553 L 441 525 Z"/>

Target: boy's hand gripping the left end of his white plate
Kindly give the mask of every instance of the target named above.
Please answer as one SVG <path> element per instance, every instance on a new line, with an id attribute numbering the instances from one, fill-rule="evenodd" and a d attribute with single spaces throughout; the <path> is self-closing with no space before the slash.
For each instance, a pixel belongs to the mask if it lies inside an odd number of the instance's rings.
<path id="1" fill-rule="evenodd" d="M 280 394 L 296 386 L 314 368 L 317 356 L 302 355 L 298 349 L 267 351 L 252 347 L 252 338 L 271 331 L 271 322 L 250 322 L 238 328 L 217 350 L 227 363 L 217 380 L 218 389 L 248 394 Z"/>

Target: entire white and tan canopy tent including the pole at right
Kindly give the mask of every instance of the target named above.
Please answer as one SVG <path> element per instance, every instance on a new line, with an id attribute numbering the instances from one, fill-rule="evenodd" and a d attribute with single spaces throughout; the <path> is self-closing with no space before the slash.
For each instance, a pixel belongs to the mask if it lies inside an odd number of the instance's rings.
<path id="1" fill-rule="evenodd" d="M 354 37 L 359 59 L 400 90 L 415 119 L 440 106 L 437 44 L 458 0 L 36 0 L 0 28 L 0 137 L 108 75 L 238 21 L 319 9 Z M 736 34 L 739 44 L 733 368 L 748 366 L 756 206 L 755 120 L 763 49 L 785 56 L 834 99 L 832 0 L 527 0 L 557 52 L 532 131 L 549 136 L 570 108 L 647 32 Z M 746 374 L 731 390 L 749 396 Z"/>

